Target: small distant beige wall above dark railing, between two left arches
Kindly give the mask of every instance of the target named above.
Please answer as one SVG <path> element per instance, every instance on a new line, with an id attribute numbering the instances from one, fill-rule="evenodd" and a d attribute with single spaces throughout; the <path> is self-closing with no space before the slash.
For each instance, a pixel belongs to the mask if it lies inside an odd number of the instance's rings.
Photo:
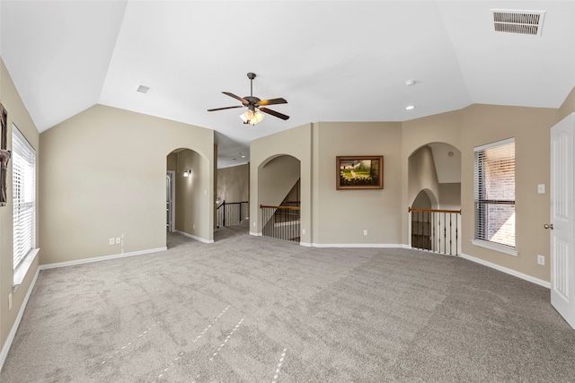
<path id="1" fill-rule="evenodd" d="M 217 196 L 220 197 L 220 201 L 228 203 L 248 201 L 250 198 L 250 165 L 246 163 L 218 169 Z"/>

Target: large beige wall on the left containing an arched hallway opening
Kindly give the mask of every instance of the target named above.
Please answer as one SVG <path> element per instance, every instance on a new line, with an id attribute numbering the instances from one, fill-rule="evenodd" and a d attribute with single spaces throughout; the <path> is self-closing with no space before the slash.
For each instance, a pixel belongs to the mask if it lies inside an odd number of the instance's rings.
<path id="1" fill-rule="evenodd" d="M 181 147 L 202 158 L 195 235 L 213 239 L 212 130 L 96 105 L 40 145 L 40 264 L 164 248 L 166 156 Z"/>

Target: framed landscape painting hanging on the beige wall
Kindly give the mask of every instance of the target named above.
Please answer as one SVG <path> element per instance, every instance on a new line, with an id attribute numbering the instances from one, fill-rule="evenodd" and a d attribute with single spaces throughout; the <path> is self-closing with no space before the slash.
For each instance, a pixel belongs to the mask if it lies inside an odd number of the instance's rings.
<path id="1" fill-rule="evenodd" d="M 384 156 L 337 156 L 336 189 L 383 189 Z"/>

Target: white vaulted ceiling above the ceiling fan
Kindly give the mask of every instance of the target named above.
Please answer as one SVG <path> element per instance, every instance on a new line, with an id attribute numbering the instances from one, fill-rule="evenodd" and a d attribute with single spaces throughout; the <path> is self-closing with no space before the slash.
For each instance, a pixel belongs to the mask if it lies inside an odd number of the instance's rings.
<path id="1" fill-rule="evenodd" d="M 493 31 L 491 8 L 545 11 L 542 35 Z M 220 167 L 309 122 L 558 108 L 575 86 L 575 0 L 1 0 L 0 15 L 0 53 L 40 132 L 100 103 L 216 130 Z M 254 96 L 288 100 L 270 107 L 287 121 L 207 111 L 239 105 L 221 91 L 249 95 L 248 72 Z"/>

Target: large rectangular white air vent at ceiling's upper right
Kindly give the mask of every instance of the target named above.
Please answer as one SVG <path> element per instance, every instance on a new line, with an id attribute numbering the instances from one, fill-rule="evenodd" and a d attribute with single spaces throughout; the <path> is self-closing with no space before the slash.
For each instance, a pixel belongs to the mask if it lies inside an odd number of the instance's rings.
<path id="1" fill-rule="evenodd" d="M 541 36 L 545 11 L 491 9 L 493 28 L 497 32 Z"/>

